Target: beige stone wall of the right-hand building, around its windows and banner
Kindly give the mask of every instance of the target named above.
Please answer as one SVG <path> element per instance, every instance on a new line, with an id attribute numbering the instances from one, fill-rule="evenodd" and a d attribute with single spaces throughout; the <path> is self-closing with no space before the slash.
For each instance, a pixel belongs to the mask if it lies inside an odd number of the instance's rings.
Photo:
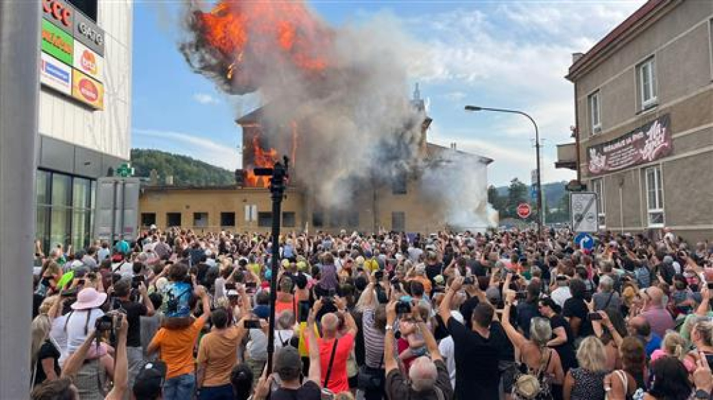
<path id="1" fill-rule="evenodd" d="M 605 226 L 659 229 L 647 219 L 645 169 L 660 166 L 664 226 L 690 241 L 713 238 L 713 2 L 667 1 L 629 41 L 605 48 L 600 61 L 573 75 L 577 87 L 580 171 L 604 183 Z M 642 110 L 637 66 L 653 56 L 657 105 Z M 597 56 L 595 56 L 597 57 Z M 593 132 L 588 98 L 599 90 L 601 131 Z M 673 151 L 619 172 L 588 174 L 587 148 L 670 115 Z"/>

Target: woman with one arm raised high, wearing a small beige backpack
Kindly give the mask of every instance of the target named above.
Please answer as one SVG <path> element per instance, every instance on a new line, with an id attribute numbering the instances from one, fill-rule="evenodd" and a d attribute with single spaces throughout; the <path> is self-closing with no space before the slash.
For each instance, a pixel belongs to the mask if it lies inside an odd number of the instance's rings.
<path id="1" fill-rule="evenodd" d="M 508 274 L 504 288 L 510 287 L 512 274 Z M 510 312 L 517 293 L 514 290 L 506 291 L 505 308 L 501 317 L 501 324 L 513 347 L 518 349 L 518 362 L 523 367 L 523 373 L 535 375 L 540 382 L 541 396 L 538 399 L 551 399 L 550 385 L 563 383 L 564 372 L 559 354 L 548 347 L 552 338 L 550 321 L 543 317 L 534 317 L 530 320 L 530 339 L 528 340 L 510 322 Z M 513 387 L 513 394 L 517 396 L 517 385 Z"/>

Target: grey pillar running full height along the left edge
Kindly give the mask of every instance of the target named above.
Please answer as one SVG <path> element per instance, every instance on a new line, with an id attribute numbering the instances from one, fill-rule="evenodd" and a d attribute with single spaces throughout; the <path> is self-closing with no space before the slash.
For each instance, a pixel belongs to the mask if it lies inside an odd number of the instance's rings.
<path id="1" fill-rule="evenodd" d="M 39 1 L 0 1 L 0 399 L 29 399 Z"/>

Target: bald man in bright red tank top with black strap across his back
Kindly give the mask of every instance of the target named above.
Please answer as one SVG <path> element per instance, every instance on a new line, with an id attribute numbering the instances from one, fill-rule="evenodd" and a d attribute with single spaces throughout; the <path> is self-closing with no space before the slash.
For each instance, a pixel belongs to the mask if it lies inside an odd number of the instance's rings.
<path id="1" fill-rule="evenodd" d="M 347 377 L 347 359 L 354 347 L 356 337 L 356 322 L 347 312 L 347 302 L 342 298 L 322 298 L 314 305 L 319 312 L 324 302 L 334 302 L 337 312 L 327 312 L 322 316 L 322 339 L 319 344 L 319 364 L 322 372 L 322 387 L 334 393 L 349 391 Z M 344 330 L 340 326 L 344 321 Z"/>

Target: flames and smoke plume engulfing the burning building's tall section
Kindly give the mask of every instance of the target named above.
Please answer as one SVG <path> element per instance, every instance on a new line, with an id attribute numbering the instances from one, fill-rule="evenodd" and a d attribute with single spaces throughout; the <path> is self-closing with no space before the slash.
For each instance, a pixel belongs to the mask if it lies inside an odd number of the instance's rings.
<path id="1" fill-rule="evenodd" d="M 223 0 L 210 10 L 191 1 L 180 50 L 225 93 L 262 98 L 265 106 L 237 120 L 239 186 L 265 194 L 268 181 L 253 169 L 287 155 L 291 191 L 284 207 L 293 226 L 488 226 L 491 160 L 426 142 L 431 120 L 424 100 L 418 88 L 413 98 L 406 95 L 414 48 L 395 24 L 382 22 L 332 28 L 300 1 Z M 263 227 L 272 219 L 268 201 L 247 204 L 245 224 L 237 226 Z M 208 219 L 223 226 L 222 219 Z"/>

